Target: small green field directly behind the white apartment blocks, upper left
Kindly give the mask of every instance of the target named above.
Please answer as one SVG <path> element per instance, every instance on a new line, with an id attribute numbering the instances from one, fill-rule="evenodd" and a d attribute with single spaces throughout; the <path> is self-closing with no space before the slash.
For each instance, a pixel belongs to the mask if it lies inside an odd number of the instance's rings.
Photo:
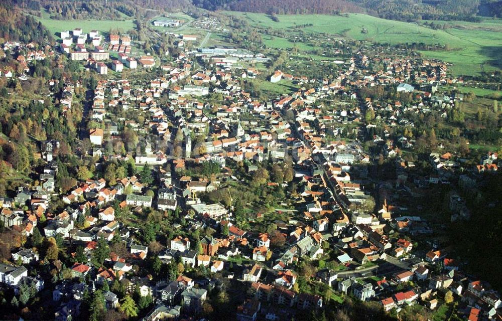
<path id="1" fill-rule="evenodd" d="M 129 20 L 54 20 L 49 18 L 49 14 L 42 13 L 42 18 L 33 16 L 37 21 L 42 24 L 57 38 L 61 31 L 73 30 L 74 28 L 81 28 L 82 32 L 88 33 L 91 30 L 97 30 L 102 35 L 107 35 L 110 29 L 121 29 L 128 31 L 134 29 L 136 25 L 132 19 Z"/>

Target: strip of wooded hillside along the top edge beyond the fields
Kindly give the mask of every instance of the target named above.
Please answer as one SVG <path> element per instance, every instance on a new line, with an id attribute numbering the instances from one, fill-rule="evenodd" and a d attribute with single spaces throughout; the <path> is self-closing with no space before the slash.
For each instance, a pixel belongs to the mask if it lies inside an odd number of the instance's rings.
<path id="1" fill-rule="evenodd" d="M 150 17 L 162 11 L 190 10 L 195 7 L 216 11 L 233 10 L 268 14 L 339 14 L 367 13 L 385 19 L 464 20 L 477 22 L 480 17 L 500 17 L 500 0 L 16 0 L 20 8 L 40 14 L 43 8 L 53 19 L 124 19 L 138 15 Z M 148 8 L 148 9 L 146 9 Z"/>

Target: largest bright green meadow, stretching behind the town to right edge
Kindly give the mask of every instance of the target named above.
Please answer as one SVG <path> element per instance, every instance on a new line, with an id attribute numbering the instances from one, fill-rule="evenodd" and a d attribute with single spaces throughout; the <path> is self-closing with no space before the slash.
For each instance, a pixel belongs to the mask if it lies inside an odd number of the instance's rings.
<path id="1" fill-rule="evenodd" d="M 502 68 L 502 22 L 485 20 L 482 23 L 448 22 L 450 29 L 433 30 L 413 23 L 380 19 L 363 14 L 342 16 L 327 15 L 279 15 L 274 22 L 266 14 L 236 13 L 250 24 L 263 28 L 283 29 L 294 32 L 298 25 L 312 24 L 301 28 L 304 32 L 330 34 L 355 40 L 378 43 L 424 43 L 447 45 L 448 51 L 423 51 L 425 57 L 441 59 L 454 64 L 455 75 L 476 74 Z M 367 33 L 362 33 L 362 30 Z M 269 37 L 269 36 L 266 36 Z M 291 48 L 294 43 L 276 37 L 276 47 Z M 271 41 L 264 38 L 271 46 Z M 300 48 L 303 49 L 303 48 Z"/>

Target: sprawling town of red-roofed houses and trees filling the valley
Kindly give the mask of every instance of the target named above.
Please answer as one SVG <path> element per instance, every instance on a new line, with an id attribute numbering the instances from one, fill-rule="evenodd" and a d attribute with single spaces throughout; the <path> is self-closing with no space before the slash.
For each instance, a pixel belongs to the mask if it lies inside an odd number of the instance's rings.
<path id="1" fill-rule="evenodd" d="M 0 38 L 0 318 L 502 320 L 499 272 L 471 267 L 500 254 L 461 248 L 496 233 L 499 149 L 462 126 L 500 137 L 498 96 L 454 64 L 212 42 L 236 23 L 211 15 L 143 45 L 68 22 Z"/>

